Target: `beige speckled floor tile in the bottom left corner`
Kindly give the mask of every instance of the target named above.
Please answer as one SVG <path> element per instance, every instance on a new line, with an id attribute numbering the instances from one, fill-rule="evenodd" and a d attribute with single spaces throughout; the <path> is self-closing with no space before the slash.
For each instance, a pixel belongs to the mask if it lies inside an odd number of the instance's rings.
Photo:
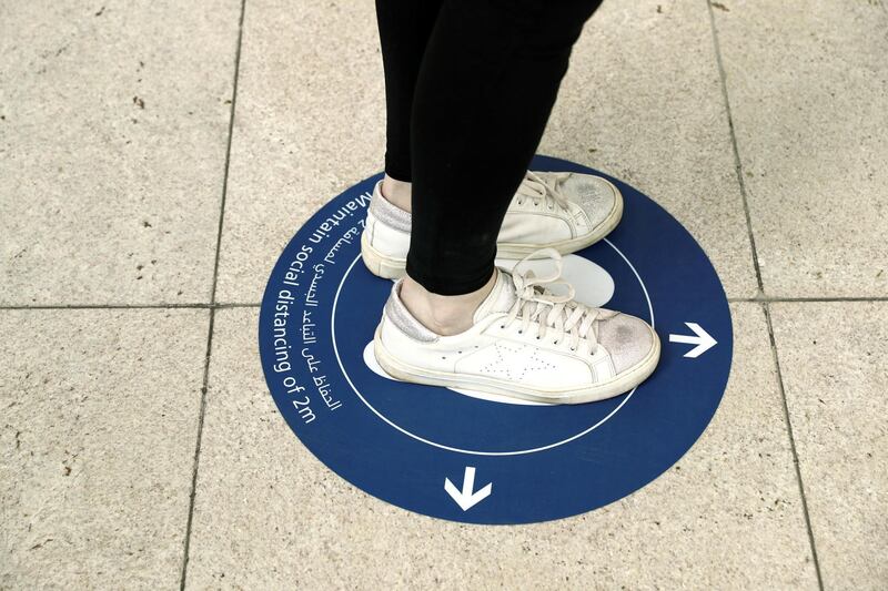
<path id="1" fill-rule="evenodd" d="M 0 312 L 0 588 L 179 584 L 205 310 Z"/>

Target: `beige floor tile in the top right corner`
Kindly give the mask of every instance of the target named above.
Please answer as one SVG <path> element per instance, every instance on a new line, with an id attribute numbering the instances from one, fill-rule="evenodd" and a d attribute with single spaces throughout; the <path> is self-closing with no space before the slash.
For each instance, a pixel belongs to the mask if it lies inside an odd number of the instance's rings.
<path id="1" fill-rule="evenodd" d="M 715 9 L 765 292 L 888 295 L 888 10 Z"/>

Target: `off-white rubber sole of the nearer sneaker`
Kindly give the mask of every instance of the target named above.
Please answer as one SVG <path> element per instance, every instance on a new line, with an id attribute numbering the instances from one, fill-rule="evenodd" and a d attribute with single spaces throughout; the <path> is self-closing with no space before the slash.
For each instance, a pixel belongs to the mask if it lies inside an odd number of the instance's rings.
<path id="1" fill-rule="evenodd" d="M 659 363 L 660 344 L 659 337 L 653 328 L 648 327 L 654 336 L 654 346 L 650 351 L 637 366 L 618 376 L 617 378 L 604 384 L 594 384 L 583 388 L 567 390 L 544 390 L 529 388 L 488 376 L 475 376 L 468 374 L 454 374 L 447 371 L 435 371 L 424 369 L 410 364 L 405 364 L 393 356 L 382 344 L 380 329 L 373 337 L 373 353 L 380 366 L 392 377 L 403 381 L 414 384 L 425 384 L 428 386 L 443 386 L 445 388 L 461 388 L 466 390 L 477 390 L 488 394 L 498 394 L 511 398 L 531 400 L 534 403 L 547 403 L 555 405 L 582 405 L 606 400 L 625 394 L 646 380 Z"/>

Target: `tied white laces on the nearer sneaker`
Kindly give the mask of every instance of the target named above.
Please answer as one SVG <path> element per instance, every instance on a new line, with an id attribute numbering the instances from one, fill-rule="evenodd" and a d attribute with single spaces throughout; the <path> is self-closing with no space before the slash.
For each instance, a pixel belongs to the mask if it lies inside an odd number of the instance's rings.
<path id="1" fill-rule="evenodd" d="M 518 267 L 531 258 L 549 258 L 555 263 L 555 271 L 548 275 L 536 276 L 527 269 L 518 273 Z M 616 315 L 615 312 L 593 308 L 574 299 L 574 286 L 561 278 L 562 255 L 555 248 L 542 248 L 524 257 L 515 265 L 512 272 L 512 283 L 515 286 L 517 298 L 508 310 L 503 327 L 515 320 L 522 323 L 519 332 L 537 323 L 537 339 L 545 338 L 546 334 L 554 332 L 553 344 L 557 345 L 562 338 L 571 339 L 571 350 L 576 350 L 581 339 L 589 343 L 589 353 L 595 355 L 598 348 L 597 322 Z M 566 295 L 552 293 L 548 287 L 555 285 L 567 286 Z"/>

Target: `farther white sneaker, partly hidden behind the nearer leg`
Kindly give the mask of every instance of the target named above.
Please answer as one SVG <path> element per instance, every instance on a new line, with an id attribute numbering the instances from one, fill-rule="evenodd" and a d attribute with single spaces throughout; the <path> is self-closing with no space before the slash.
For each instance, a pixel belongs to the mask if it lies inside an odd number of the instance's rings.
<path id="1" fill-rule="evenodd" d="M 404 276 L 411 214 L 382 196 L 376 183 L 361 254 L 371 273 Z M 497 256 L 523 258 L 541 248 L 573 253 L 605 237 L 623 216 L 623 196 L 601 176 L 571 172 L 527 172 L 506 211 L 496 241 Z"/>

